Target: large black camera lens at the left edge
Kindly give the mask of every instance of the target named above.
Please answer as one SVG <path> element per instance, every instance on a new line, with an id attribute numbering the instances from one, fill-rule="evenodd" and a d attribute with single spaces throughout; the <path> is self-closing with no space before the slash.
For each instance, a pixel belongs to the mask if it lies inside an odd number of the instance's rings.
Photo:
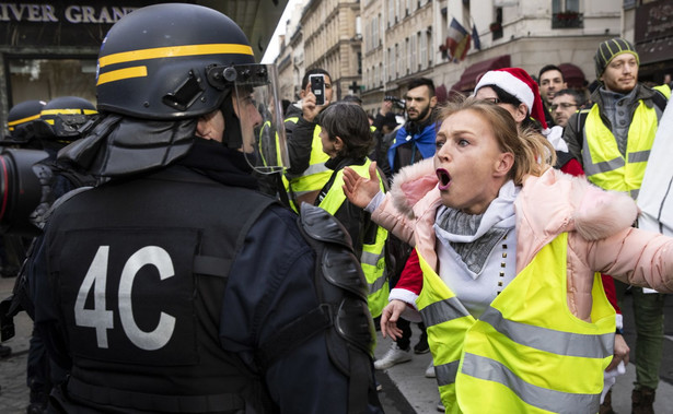
<path id="1" fill-rule="evenodd" d="M 31 214 L 43 198 L 51 170 L 39 164 L 48 154 L 37 150 L 4 150 L 0 153 L 0 233 L 35 236 L 39 229 Z"/>

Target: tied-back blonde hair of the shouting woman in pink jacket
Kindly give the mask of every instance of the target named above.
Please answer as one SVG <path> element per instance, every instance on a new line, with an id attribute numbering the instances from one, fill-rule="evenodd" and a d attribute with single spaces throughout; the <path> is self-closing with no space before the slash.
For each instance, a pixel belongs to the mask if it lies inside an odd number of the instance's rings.
<path id="1" fill-rule="evenodd" d="M 500 151 L 514 156 L 514 164 L 508 177 L 514 180 L 517 186 L 523 184 L 526 175 L 539 177 L 556 163 L 556 151 L 544 135 L 533 129 L 519 131 L 510 113 L 487 100 L 467 97 L 449 102 L 438 114 L 438 125 L 463 110 L 476 113 L 488 121 Z"/>

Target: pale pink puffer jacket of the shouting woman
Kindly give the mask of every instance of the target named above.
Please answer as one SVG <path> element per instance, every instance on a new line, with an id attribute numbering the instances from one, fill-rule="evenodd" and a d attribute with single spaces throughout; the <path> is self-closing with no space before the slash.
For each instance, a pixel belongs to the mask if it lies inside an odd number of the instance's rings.
<path id="1" fill-rule="evenodd" d="M 434 269 L 432 225 L 441 205 L 437 182 L 431 158 L 403 168 L 372 213 L 374 222 L 416 246 Z M 568 307 L 578 318 L 590 320 L 594 272 L 673 292 L 673 238 L 633 228 L 638 209 L 628 196 L 549 168 L 541 177 L 525 178 L 514 209 L 517 273 L 543 246 L 568 232 Z"/>

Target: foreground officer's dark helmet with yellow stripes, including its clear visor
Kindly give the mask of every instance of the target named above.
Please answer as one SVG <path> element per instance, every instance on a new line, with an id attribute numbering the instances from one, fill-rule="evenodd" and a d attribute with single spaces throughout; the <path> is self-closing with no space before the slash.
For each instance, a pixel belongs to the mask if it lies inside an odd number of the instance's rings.
<path id="1" fill-rule="evenodd" d="M 243 31 L 219 11 L 181 3 L 138 9 L 107 33 L 96 72 L 102 113 L 178 121 L 221 109 L 224 145 L 242 151 L 254 168 L 288 165 L 276 68 L 255 63 Z M 248 110 L 256 103 L 269 117 Z M 266 123 L 276 133 L 260 135 Z M 259 147 L 272 147 L 278 162 L 263 159 Z"/>

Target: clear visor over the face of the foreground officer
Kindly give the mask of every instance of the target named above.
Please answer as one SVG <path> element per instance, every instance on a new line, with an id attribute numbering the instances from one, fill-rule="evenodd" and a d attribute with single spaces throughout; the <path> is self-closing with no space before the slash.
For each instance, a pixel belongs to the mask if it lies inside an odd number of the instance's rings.
<path id="1" fill-rule="evenodd" d="M 234 106 L 241 122 L 242 146 L 247 163 L 259 174 L 290 166 L 282 109 L 276 88 L 276 67 L 236 66 Z"/>

